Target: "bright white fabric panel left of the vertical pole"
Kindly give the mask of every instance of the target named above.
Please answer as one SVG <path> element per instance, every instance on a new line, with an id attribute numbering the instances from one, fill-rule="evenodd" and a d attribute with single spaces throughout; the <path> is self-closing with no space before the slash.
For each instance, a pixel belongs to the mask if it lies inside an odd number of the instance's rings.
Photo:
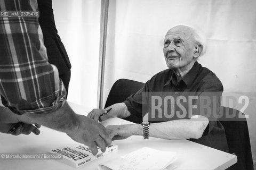
<path id="1" fill-rule="evenodd" d="M 100 0 L 53 0 L 55 23 L 72 65 L 68 100 L 97 107 Z"/>

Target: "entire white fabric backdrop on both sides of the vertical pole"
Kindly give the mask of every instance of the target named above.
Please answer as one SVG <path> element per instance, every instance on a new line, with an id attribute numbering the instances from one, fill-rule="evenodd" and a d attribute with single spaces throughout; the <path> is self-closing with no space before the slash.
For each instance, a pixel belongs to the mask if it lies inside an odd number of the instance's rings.
<path id="1" fill-rule="evenodd" d="M 217 74 L 225 91 L 255 91 L 255 6 L 254 0 L 110 0 L 104 103 L 116 80 L 146 82 L 167 68 L 163 39 L 166 31 L 177 24 L 206 33 L 208 49 L 199 63 Z M 95 108 L 100 0 L 53 0 L 53 8 L 73 66 L 68 100 Z M 256 117 L 250 114 L 255 160 Z"/>

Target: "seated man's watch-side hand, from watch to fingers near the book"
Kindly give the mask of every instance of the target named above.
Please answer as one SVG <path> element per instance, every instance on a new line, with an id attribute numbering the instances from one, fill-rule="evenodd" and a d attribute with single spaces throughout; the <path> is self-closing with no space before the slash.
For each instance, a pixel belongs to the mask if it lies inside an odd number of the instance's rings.
<path id="1" fill-rule="evenodd" d="M 112 140 L 122 140 L 131 137 L 131 135 L 143 134 L 140 124 L 109 125 L 107 129 Z"/>

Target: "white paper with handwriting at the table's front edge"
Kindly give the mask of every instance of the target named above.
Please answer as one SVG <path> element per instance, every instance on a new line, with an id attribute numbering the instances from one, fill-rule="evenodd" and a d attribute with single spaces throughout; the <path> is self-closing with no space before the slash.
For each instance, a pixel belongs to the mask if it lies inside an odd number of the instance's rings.
<path id="1" fill-rule="evenodd" d="M 99 170 L 163 170 L 175 160 L 174 152 L 141 148 L 115 160 L 102 163 Z M 171 169 L 174 167 L 170 167 Z M 170 169 L 168 168 L 168 169 Z"/>

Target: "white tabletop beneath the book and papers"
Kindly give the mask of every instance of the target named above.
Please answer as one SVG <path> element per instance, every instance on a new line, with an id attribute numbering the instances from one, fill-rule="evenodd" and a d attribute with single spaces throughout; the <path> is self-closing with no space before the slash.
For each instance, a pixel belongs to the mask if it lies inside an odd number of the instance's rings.
<path id="1" fill-rule="evenodd" d="M 70 103 L 78 114 L 87 114 L 89 109 Z M 109 119 L 103 122 L 108 124 L 129 124 L 130 122 L 119 118 Z M 65 133 L 54 131 L 45 127 L 41 128 L 40 135 L 19 135 L 0 133 L 0 155 L 1 153 L 45 153 L 47 150 L 69 146 L 76 142 L 71 140 Z M 157 138 L 143 139 L 141 136 L 132 136 L 125 140 L 113 141 L 118 145 L 118 151 L 100 157 L 93 162 L 77 169 L 96 170 L 98 164 L 110 159 L 128 154 L 142 147 L 149 147 L 163 151 L 177 152 L 177 170 L 201 170 L 201 169 L 226 169 L 236 163 L 237 157 L 226 152 L 212 149 L 188 140 L 165 140 Z M 22 159 L 0 159 L 0 169 L 76 169 L 57 160 L 22 160 Z"/>

